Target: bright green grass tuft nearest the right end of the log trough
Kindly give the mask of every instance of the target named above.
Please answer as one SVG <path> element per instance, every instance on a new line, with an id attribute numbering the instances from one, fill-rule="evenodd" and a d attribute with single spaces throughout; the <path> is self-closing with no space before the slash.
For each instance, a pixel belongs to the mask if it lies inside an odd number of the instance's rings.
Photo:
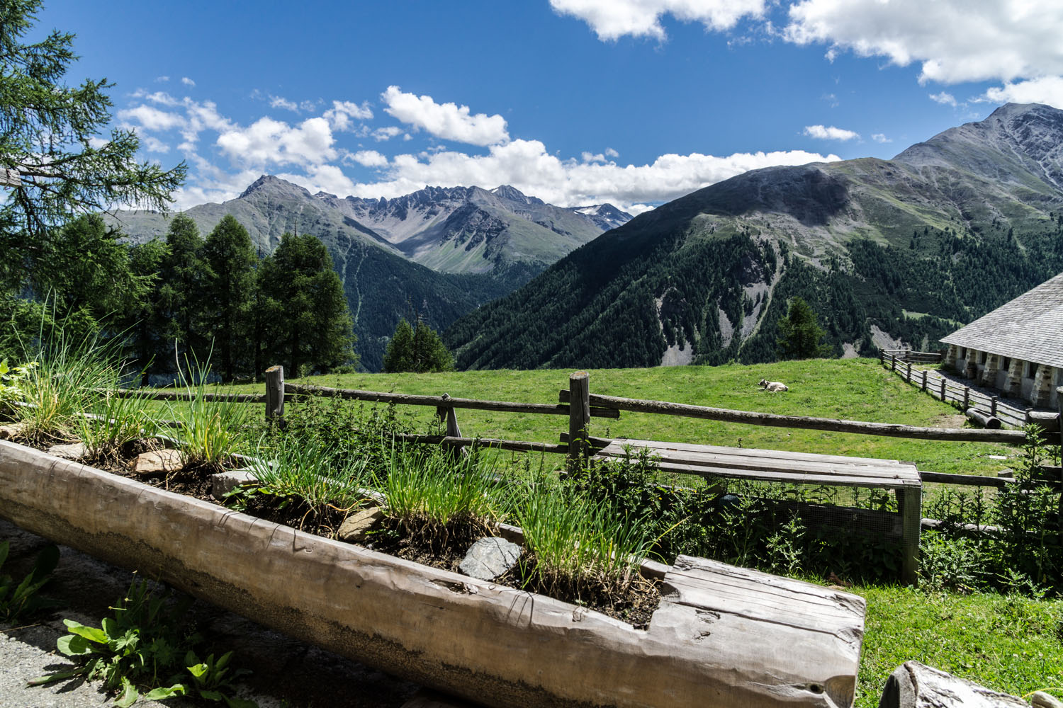
<path id="1" fill-rule="evenodd" d="M 527 489 L 517 520 L 529 552 L 521 562 L 525 580 L 577 599 L 625 592 L 652 543 L 643 517 L 545 477 Z"/>

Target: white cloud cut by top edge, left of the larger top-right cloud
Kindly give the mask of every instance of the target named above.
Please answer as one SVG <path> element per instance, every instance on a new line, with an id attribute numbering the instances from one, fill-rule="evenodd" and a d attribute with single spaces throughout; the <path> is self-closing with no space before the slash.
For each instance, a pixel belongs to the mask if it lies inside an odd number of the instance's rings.
<path id="1" fill-rule="evenodd" d="M 707 30 L 729 30 L 743 17 L 762 17 L 764 0 L 550 0 L 554 12 L 587 22 L 598 39 L 667 38 L 660 19 L 672 15 Z"/>

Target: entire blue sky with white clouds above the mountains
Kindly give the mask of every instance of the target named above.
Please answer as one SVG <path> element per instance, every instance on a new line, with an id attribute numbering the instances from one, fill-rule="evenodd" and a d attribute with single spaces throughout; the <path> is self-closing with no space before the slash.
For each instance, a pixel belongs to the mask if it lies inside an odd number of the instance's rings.
<path id="1" fill-rule="evenodd" d="M 632 211 L 747 169 L 889 158 L 1015 100 L 1063 106 L 1033 0 L 46 0 L 178 206 L 261 173 L 339 195 L 512 184 Z M 105 137 L 105 136 L 101 136 Z"/>

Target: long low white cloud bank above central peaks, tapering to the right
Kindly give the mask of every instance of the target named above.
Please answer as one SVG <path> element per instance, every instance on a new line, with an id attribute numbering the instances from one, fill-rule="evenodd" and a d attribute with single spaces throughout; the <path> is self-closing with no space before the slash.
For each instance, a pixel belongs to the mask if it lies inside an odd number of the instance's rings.
<path id="1" fill-rule="evenodd" d="M 837 155 L 804 151 L 736 153 L 726 157 L 694 153 L 661 155 L 642 166 L 602 165 L 561 160 L 538 140 L 518 139 L 492 145 L 487 155 L 451 151 L 423 158 L 396 155 L 384 180 L 357 184 L 352 193 L 391 198 L 425 185 L 512 185 L 559 206 L 611 202 L 638 210 L 635 205 L 673 200 L 747 170 L 837 159 Z"/>

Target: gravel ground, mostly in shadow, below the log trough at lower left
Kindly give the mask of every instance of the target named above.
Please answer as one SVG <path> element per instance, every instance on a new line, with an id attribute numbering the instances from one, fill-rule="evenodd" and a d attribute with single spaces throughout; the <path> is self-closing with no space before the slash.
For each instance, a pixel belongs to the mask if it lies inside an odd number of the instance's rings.
<path id="1" fill-rule="evenodd" d="M 0 541 L 11 541 L 2 570 L 21 580 L 47 541 L 0 520 Z M 72 549 L 61 547 L 54 580 L 43 591 L 60 606 L 19 626 L 0 624 L 0 708 L 83 708 L 109 706 L 113 700 L 97 685 L 61 681 L 28 687 L 27 679 L 69 666 L 55 651 L 66 634 L 63 618 L 100 626 L 108 606 L 120 599 L 134 575 Z M 267 629 L 254 622 L 197 601 L 189 612 L 218 653 L 234 650 L 234 662 L 252 674 L 240 683 L 241 697 L 261 708 L 399 708 L 418 693 L 416 684 L 370 669 Z M 419 697 L 422 694 L 419 694 Z M 136 706 L 190 708 L 187 698 L 165 703 L 139 701 Z M 220 704 L 206 704 L 217 706 Z"/>

